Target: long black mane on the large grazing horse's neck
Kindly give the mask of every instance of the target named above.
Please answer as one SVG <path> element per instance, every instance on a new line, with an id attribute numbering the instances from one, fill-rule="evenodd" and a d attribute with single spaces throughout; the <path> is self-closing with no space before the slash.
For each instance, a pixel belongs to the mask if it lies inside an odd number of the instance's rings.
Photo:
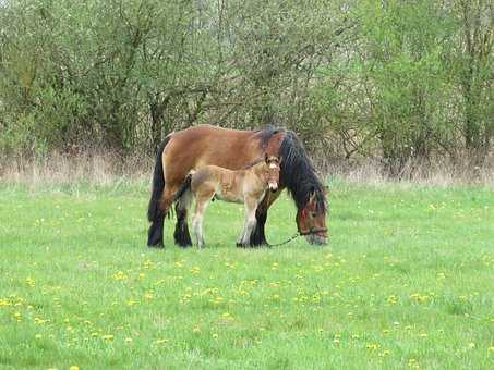
<path id="1" fill-rule="evenodd" d="M 303 209 L 312 193 L 315 194 L 317 211 L 326 211 L 324 186 L 308 157 L 302 143 L 292 131 L 286 131 L 279 147 L 281 165 L 279 180 L 291 197 L 297 208 Z"/>

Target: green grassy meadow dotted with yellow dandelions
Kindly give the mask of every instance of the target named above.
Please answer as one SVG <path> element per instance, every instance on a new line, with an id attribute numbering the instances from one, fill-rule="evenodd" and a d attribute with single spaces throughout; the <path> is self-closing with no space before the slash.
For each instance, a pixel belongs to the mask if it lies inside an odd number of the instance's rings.
<path id="1" fill-rule="evenodd" d="M 147 185 L 0 185 L 0 368 L 494 368 L 494 192 L 330 182 L 329 245 L 145 247 Z M 267 235 L 293 234 L 286 197 Z M 75 368 L 73 368 L 75 369 Z"/>

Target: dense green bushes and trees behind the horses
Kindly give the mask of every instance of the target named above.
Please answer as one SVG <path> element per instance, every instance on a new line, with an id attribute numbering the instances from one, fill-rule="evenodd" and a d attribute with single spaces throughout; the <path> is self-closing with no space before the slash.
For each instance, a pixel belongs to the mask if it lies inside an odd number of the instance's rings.
<path id="1" fill-rule="evenodd" d="M 493 7 L 441 1 L 8 1 L 2 151 L 150 152 L 172 130 L 284 124 L 333 157 L 492 150 Z"/>

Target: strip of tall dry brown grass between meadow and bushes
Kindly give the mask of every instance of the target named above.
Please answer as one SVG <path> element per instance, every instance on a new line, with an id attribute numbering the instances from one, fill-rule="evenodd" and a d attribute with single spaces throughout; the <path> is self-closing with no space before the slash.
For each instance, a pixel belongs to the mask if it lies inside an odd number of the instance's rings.
<path id="1" fill-rule="evenodd" d="M 76 184 L 111 185 L 121 178 L 135 182 L 150 182 L 154 158 L 134 155 L 124 159 L 112 153 L 82 153 L 67 156 L 51 153 L 41 160 L 14 159 L 0 160 L 0 181 L 3 183 L 26 184 Z M 389 177 L 376 160 L 361 159 L 344 161 L 314 156 L 315 166 L 322 175 L 337 176 L 351 183 L 386 184 L 394 182 L 417 183 L 422 185 L 494 185 L 494 159 L 482 168 L 465 163 L 436 161 L 429 164 L 409 163 L 401 177 Z"/>

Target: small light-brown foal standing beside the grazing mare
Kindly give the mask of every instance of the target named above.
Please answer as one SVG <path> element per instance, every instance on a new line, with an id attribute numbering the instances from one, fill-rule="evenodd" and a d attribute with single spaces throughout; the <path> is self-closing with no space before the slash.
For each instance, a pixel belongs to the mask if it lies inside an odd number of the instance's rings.
<path id="1" fill-rule="evenodd" d="M 217 165 L 205 165 L 192 170 L 178 192 L 178 197 L 195 198 L 192 231 L 198 248 L 204 246 L 203 217 L 212 199 L 244 203 L 245 220 L 237 246 L 246 245 L 255 227 L 255 210 L 267 190 L 276 193 L 279 182 L 279 163 L 276 156 L 265 155 L 243 170 L 228 170 Z"/>

